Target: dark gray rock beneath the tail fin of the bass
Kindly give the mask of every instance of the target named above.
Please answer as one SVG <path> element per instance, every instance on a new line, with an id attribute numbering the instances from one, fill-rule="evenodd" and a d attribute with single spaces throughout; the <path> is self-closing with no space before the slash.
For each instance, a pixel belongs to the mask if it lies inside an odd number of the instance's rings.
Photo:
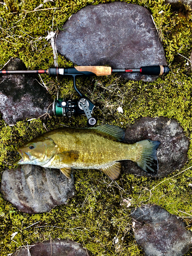
<path id="1" fill-rule="evenodd" d="M 189 141 L 176 120 L 142 117 L 125 131 L 126 142 L 135 143 L 145 139 L 161 142 L 157 150 L 159 171 L 154 177 L 165 177 L 186 163 Z M 126 173 L 151 177 L 132 161 L 125 161 L 123 167 Z"/>

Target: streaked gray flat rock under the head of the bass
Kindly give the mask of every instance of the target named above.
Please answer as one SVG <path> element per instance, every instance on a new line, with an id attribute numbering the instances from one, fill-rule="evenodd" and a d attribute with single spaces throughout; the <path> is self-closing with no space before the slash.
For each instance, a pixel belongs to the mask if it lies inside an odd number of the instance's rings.
<path id="1" fill-rule="evenodd" d="M 37 214 L 67 204 L 75 194 L 74 179 L 59 169 L 26 164 L 3 172 L 1 192 L 18 210 Z"/>

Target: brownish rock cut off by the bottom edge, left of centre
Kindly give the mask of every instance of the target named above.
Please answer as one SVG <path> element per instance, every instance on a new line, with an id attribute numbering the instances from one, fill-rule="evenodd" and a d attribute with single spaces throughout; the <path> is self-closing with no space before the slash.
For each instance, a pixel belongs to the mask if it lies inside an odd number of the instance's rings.
<path id="1" fill-rule="evenodd" d="M 31 256 L 89 256 L 89 251 L 72 240 L 45 241 L 29 246 Z M 29 256 L 28 249 L 21 247 L 12 256 Z"/>

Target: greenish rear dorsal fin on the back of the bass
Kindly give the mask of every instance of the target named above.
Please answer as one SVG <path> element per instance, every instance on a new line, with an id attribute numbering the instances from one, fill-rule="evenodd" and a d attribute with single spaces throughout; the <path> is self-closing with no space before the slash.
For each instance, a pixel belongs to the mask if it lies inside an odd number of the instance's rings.
<path id="1" fill-rule="evenodd" d="M 119 141 L 124 139 L 124 130 L 119 126 L 115 126 L 111 124 L 103 124 L 97 127 L 90 127 L 89 129 L 95 129 L 97 131 L 109 134 L 115 137 Z"/>

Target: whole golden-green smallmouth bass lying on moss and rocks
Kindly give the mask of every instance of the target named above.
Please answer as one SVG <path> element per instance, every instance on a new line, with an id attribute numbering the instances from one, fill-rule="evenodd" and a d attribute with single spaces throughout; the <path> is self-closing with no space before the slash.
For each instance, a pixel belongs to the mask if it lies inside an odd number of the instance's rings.
<path id="1" fill-rule="evenodd" d="M 121 160 L 132 160 L 147 173 L 157 174 L 159 141 L 123 142 L 124 130 L 104 124 L 88 129 L 59 128 L 42 134 L 17 152 L 18 164 L 58 168 L 68 178 L 72 169 L 100 169 L 111 180 L 121 174 Z"/>

